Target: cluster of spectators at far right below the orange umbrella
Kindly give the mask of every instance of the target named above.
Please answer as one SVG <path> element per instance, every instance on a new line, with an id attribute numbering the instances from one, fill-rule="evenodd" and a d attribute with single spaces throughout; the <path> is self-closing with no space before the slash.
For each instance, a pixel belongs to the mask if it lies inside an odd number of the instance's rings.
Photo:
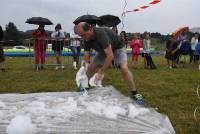
<path id="1" fill-rule="evenodd" d="M 166 54 L 168 68 L 178 68 L 179 64 L 185 64 L 187 57 L 190 57 L 189 63 L 198 64 L 200 56 L 200 36 L 194 33 L 191 41 L 185 32 L 178 37 L 171 35 L 166 42 Z M 200 65 L 199 65 L 200 70 Z"/>

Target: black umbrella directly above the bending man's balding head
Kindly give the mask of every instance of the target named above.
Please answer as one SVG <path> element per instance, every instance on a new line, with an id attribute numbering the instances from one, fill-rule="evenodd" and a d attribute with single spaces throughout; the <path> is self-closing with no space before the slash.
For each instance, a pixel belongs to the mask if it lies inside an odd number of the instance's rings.
<path id="1" fill-rule="evenodd" d="M 87 22 L 91 25 L 96 25 L 101 23 L 101 19 L 95 15 L 82 15 L 78 17 L 73 23 L 77 25 L 80 22 Z"/>

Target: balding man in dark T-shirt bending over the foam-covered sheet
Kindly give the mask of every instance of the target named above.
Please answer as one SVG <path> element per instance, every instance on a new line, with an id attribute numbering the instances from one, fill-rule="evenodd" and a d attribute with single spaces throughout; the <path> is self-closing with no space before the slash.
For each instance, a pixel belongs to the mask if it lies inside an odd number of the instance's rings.
<path id="1" fill-rule="evenodd" d="M 114 65 L 120 69 L 124 80 L 132 92 L 131 98 L 138 104 L 144 104 L 144 99 L 138 93 L 133 76 L 129 71 L 126 49 L 121 38 L 109 28 L 96 28 L 86 22 L 80 22 L 75 27 L 75 33 L 85 41 L 84 60 L 90 63 L 91 50 L 94 49 L 97 52 L 93 62 L 88 66 L 87 76 L 90 78 L 97 67 L 100 66 L 95 75 L 95 81 L 103 80 L 106 70 L 114 61 Z"/>

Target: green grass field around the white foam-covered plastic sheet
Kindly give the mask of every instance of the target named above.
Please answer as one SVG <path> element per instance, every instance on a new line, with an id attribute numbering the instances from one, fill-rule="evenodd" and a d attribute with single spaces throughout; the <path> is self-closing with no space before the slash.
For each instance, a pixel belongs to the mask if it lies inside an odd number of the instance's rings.
<path id="1" fill-rule="evenodd" d="M 166 114 L 177 133 L 199 134 L 200 124 L 193 117 L 194 109 L 199 105 L 196 88 L 200 72 L 197 65 L 186 64 L 178 69 L 168 69 L 163 57 L 153 58 L 158 67 L 156 70 L 144 70 L 141 58 L 138 69 L 129 65 L 136 86 L 145 97 L 145 105 Z M 48 58 L 48 62 L 54 60 Z M 45 70 L 36 72 L 32 58 L 7 58 L 7 72 L 0 71 L 0 93 L 76 91 L 76 71 L 72 68 L 71 59 L 67 58 L 65 62 L 65 70 L 46 66 Z M 122 94 L 130 95 L 116 69 L 108 70 L 103 84 L 113 85 Z"/>

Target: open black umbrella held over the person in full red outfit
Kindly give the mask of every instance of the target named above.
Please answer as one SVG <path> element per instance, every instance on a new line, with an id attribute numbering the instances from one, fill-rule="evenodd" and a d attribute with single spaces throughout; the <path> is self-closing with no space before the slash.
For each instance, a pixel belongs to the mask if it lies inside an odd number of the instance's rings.
<path id="1" fill-rule="evenodd" d="M 26 20 L 26 23 L 28 24 L 36 24 L 36 25 L 52 25 L 53 23 L 47 19 L 47 18 L 43 18 L 43 17 L 32 17 Z"/>

